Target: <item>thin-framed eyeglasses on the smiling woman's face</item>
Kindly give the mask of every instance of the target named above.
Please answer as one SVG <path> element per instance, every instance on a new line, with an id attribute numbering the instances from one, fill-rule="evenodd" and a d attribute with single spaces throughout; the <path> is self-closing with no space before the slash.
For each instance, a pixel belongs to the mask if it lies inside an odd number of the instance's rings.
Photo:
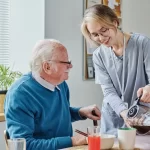
<path id="1" fill-rule="evenodd" d="M 96 38 L 96 37 L 99 37 L 99 35 L 105 37 L 105 36 L 108 36 L 109 35 L 109 28 L 104 28 L 102 27 L 100 30 L 99 30 L 99 33 L 92 33 L 90 36 L 91 38 Z"/>

